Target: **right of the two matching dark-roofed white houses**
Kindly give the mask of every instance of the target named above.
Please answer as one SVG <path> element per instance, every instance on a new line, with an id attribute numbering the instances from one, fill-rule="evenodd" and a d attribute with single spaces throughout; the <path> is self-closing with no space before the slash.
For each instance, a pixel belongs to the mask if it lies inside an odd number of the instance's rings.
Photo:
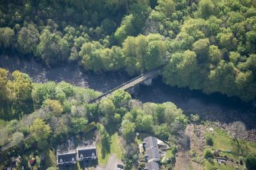
<path id="1" fill-rule="evenodd" d="M 85 143 L 80 144 L 76 148 L 76 158 L 79 161 L 97 159 L 96 143 L 89 143 L 89 141 L 86 141 Z"/>

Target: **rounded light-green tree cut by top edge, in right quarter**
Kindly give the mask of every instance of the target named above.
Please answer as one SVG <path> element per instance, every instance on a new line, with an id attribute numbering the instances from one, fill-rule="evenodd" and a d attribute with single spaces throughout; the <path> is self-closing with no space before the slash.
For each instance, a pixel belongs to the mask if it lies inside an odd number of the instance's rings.
<path id="1" fill-rule="evenodd" d="M 201 0 L 198 5 L 199 15 L 202 18 L 209 18 L 213 14 L 215 6 L 211 0 Z"/>

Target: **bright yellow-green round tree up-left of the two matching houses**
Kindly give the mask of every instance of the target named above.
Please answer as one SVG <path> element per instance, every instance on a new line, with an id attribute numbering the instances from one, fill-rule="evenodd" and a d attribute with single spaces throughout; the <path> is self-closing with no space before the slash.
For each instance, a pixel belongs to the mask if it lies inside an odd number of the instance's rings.
<path id="1" fill-rule="evenodd" d="M 41 118 L 36 118 L 36 120 L 34 120 L 34 123 L 30 126 L 30 131 L 37 141 L 47 140 L 47 137 L 51 132 L 49 125 L 45 124 L 44 120 Z"/>

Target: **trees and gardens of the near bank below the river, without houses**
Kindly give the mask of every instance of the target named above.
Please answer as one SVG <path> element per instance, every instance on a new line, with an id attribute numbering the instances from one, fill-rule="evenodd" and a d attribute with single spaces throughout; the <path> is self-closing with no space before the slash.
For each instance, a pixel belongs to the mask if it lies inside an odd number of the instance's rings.
<path id="1" fill-rule="evenodd" d="M 5 69 L 1 72 L 8 74 Z M 0 78 L 1 103 L 6 103 L 0 114 L 1 168 L 17 162 L 16 169 L 54 169 L 57 145 L 74 137 L 96 140 L 99 165 L 105 166 L 115 154 L 125 169 L 142 169 L 145 164 L 138 162 L 139 144 L 147 136 L 170 146 L 159 163 L 161 169 L 181 168 L 184 156 L 190 158 L 186 160 L 188 167 L 195 162 L 197 168 L 207 169 L 254 167 L 256 145 L 243 136 L 247 133 L 244 123 L 234 122 L 222 129 L 200 120 L 198 114 L 186 116 L 188 113 L 171 102 L 141 103 L 122 90 L 89 104 L 101 93 L 66 82 L 37 84 L 18 71 L 2 73 Z M 20 95 L 21 91 L 26 93 Z M 28 104 L 30 110 L 24 107 Z M 215 162 L 221 158 L 228 165 Z"/>

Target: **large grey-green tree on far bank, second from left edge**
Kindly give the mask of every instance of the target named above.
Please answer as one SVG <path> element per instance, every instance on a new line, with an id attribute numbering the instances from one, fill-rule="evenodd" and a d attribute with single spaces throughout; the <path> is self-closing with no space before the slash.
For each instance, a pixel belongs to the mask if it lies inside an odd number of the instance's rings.
<path id="1" fill-rule="evenodd" d="M 33 24 L 22 27 L 18 32 L 17 40 L 21 53 L 36 53 L 39 36 L 38 30 Z"/>

